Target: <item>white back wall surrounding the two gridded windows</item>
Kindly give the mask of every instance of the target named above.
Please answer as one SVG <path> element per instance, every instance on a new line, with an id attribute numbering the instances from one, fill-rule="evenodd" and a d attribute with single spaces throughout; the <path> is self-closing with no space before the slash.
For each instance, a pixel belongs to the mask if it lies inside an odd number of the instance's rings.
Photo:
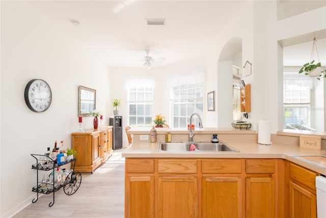
<path id="1" fill-rule="evenodd" d="M 167 84 L 169 75 L 192 72 L 194 69 L 205 68 L 205 59 L 195 60 L 174 64 L 165 67 L 153 67 L 149 70 L 135 67 L 111 67 L 110 68 L 110 93 L 113 99 L 122 99 L 119 115 L 123 118 L 123 127 L 129 125 L 128 121 L 128 102 L 125 80 L 128 78 L 152 78 L 155 81 L 153 93 L 153 119 L 157 114 L 162 114 L 167 119 L 167 124 L 172 126 L 170 117 L 170 89 Z M 113 108 L 112 108 L 113 110 Z M 110 113 L 113 115 L 112 110 Z M 123 146 L 127 146 L 126 134 L 123 134 Z"/>

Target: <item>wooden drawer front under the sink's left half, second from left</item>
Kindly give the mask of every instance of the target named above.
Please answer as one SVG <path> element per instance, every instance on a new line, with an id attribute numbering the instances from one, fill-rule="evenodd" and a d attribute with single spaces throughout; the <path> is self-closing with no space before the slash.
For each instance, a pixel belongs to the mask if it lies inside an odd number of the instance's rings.
<path id="1" fill-rule="evenodd" d="M 158 173 L 197 173 L 197 160 L 158 160 Z"/>

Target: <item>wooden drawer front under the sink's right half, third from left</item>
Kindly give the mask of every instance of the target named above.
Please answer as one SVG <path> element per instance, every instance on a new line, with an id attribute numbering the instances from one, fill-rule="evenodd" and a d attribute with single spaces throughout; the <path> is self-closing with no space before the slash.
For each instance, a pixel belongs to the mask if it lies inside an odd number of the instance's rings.
<path id="1" fill-rule="evenodd" d="M 202 160 L 202 173 L 241 173 L 241 160 Z"/>

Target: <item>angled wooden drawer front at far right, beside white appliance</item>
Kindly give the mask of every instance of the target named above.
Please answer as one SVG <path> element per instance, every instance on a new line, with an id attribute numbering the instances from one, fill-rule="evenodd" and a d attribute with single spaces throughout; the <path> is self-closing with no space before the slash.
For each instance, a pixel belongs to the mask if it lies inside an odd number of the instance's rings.
<path id="1" fill-rule="evenodd" d="M 301 166 L 290 163 L 290 177 L 298 182 L 315 189 L 315 178 L 317 173 L 309 171 Z"/>

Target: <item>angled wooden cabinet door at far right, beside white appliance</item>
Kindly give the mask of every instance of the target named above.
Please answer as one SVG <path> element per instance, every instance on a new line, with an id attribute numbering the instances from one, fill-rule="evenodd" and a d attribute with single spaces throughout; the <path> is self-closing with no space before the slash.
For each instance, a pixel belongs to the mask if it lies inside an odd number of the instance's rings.
<path id="1" fill-rule="evenodd" d="M 316 196 L 307 189 L 290 182 L 290 217 L 317 217 Z"/>

